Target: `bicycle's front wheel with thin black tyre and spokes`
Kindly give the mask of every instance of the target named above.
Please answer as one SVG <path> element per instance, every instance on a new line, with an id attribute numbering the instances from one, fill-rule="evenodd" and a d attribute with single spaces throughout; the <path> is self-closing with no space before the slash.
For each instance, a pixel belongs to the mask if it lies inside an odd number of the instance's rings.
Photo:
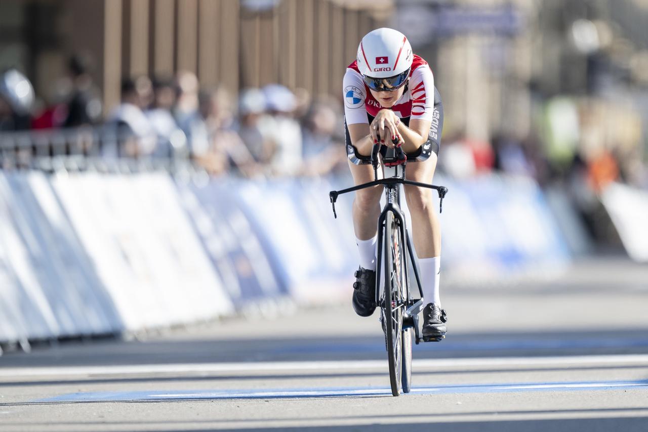
<path id="1" fill-rule="evenodd" d="M 387 332 L 387 352 L 389 363 L 389 382 L 391 394 L 400 395 L 402 378 L 402 321 L 404 301 L 402 284 L 397 278 L 402 275 L 402 257 L 399 242 L 400 230 L 393 213 L 388 212 L 385 220 L 385 280 L 384 280 L 384 319 Z M 395 241 L 396 240 L 396 241 Z M 395 253 L 396 251 L 396 253 Z M 400 273 L 399 272 L 400 267 Z"/>

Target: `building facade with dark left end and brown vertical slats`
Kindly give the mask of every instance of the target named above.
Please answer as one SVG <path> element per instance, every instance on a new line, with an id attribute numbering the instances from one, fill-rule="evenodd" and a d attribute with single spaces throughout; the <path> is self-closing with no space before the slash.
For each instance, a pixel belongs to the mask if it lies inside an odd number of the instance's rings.
<path id="1" fill-rule="evenodd" d="M 90 52 L 104 112 L 119 102 L 122 78 L 181 70 L 233 93 L 280 83 L 338 95 L 358 41 L 391 8 L 390 0 L 5 0 L 0 68 L 18 67 L 49 95 L 67 57 Z"/>

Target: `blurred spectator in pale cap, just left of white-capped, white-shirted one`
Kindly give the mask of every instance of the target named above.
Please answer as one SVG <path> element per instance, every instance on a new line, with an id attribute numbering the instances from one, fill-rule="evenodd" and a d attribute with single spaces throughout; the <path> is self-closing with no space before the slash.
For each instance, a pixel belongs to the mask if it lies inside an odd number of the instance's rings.
<path id="1" fill-rule="evenodd" d="M 266 97 L 259 89 L 244 89 L 238 98 L 238 136 L 257 163 L 269 164 L 274 143 L 260 128 L 260 119 L 266 113 Z"/>

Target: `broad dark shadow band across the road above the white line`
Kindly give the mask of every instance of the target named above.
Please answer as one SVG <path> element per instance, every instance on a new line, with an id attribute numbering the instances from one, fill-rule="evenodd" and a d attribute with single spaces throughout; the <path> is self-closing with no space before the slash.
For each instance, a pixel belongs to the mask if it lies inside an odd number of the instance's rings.
<path id="1" fill-rule="evenodd" d="M 648 328 L 450 333 L 441 343 L 421 343 L 413 347 L 415 359 L 646 353 Z M 0 366 L 322 361 L 384 359 L 385 356 L 383 335 L 380 328 L 376 328 L 376 335 L 369 337 L 312 335 L 276 339 L 69 342 L 55 347 L 35 347 L 29 354 L 6 353 L 0 357 Z"/>

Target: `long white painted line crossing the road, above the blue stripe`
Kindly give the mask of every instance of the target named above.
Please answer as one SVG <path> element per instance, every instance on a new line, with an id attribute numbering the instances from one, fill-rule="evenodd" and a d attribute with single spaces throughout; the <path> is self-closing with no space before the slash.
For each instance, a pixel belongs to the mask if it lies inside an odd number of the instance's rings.
<path id="1" fill-rule="evenodd" d="M 555 356 L 555 357 L 504 357 L 504 358 L 455 358 L 455 359 L 414 359 L 412 367 L 425 368 L 465 368 L 465 367 L 513 367 L 513 366 L 551 366 L 551 365 L 628 365 L 645 364 L 648 367 L 648 354 L 628 354 L 610 356 Z M 153 365 L 105 365 L 105 366 L 67 366 L 67 367 L 3 367 L 2 378 L 24 378 L 34 376 L 102 376 L 113 374 L 159 374 L 159 373 L 224 373 L 255 371 L 295 371 L 295 370 L 373 370 L 386 369 L 387 360 L 341 360 L 341 361 L 268 361 L 240 363 L 176 363 Z"/>

